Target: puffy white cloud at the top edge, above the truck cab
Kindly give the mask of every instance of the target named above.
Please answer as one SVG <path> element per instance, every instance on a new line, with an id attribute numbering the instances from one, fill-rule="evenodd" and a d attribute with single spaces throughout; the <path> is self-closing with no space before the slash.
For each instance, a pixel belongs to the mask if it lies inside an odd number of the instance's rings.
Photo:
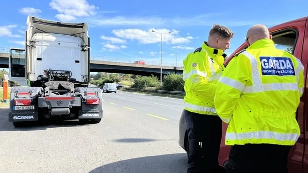
<path id="1" fill-rule="evenodd" d="M 76 17 L 94 16 L 98 9 L 86 0 L 52 0 L 49 6 L 60 13 L 55 17 L 62 22 L 74 21 Z"/>

